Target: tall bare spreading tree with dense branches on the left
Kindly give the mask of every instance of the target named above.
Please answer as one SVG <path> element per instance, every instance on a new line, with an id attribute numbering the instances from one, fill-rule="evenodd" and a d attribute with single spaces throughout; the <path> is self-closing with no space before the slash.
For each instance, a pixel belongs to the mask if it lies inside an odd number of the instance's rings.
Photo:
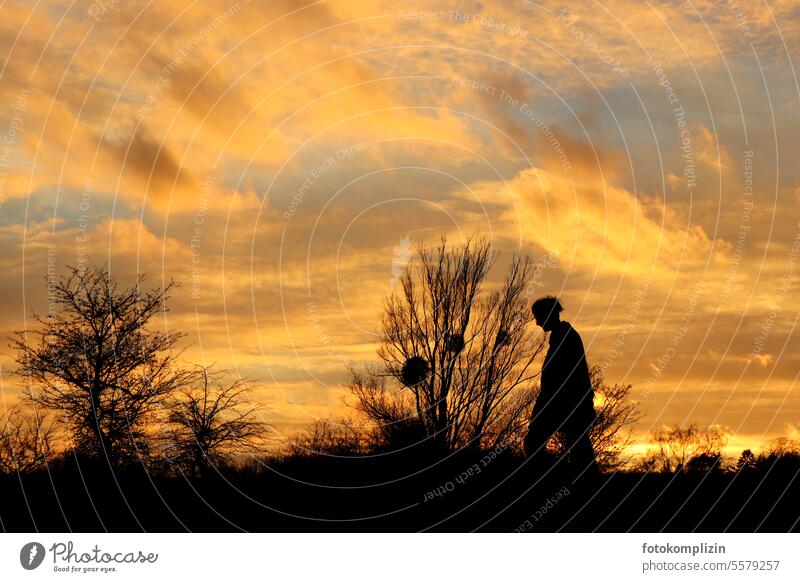
<path id="1" fill-rule="evenodd" d="M 116 465 L 149 452 L 148 425 L 190 374 L 174 366 L 180 334 L 150 329 L 173 286 L 120 288 L 100 267 L 71 267 L 53 289 L 57 312 L 17 332 L 28 397 L 59 413 L 76 449 Z"/>

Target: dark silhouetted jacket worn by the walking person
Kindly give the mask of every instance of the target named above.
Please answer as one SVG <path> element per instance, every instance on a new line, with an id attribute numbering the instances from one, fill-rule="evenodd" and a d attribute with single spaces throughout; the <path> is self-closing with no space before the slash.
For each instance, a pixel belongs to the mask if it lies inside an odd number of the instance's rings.
<path id="1" fill-rule="evenodd" d="M 561 321 L 550 332 L 533 416 L 541 413 L 551 422 L 565 423 L 564 429 L 585 430 L 595 420 L 593 400 L 581 336 L 569 322 Z"/>

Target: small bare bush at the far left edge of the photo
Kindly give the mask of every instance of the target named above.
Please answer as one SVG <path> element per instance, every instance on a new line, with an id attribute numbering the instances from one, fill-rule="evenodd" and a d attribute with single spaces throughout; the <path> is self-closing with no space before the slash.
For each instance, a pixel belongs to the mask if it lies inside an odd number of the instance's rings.
<path id="1" fill-rule="evenodd" d="M 25 473 L 45 465 L 53 454 L 56 427 L 46 413 L 21 404 L 0 415 L 0 473 Z"/>

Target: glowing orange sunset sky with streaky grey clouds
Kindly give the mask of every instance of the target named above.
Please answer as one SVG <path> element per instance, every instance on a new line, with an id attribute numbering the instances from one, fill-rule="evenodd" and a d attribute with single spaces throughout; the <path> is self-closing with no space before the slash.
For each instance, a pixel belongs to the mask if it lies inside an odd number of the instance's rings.
<path id="1" fill-rule="evenodd" d="M 66 265 L 175 278 L 160 324 L 286 435 L 347 412 L 416 245 L 484 233 L 640 438 L 800 437 L 799 6 L 6 2 L 0 336 Z"/>

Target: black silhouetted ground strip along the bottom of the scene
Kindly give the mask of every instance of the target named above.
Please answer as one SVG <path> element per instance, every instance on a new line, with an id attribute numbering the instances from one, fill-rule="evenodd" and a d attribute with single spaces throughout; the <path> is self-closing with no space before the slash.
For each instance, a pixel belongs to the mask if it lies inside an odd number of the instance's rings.
<path id="1" fill-rule="evenodd" d="M 0 478 L 10 532 L 605 531 L 798 529 L 800 465 L 705 474 L 532 475 L 510 452 L 485 465 L 398 454 L 290 458 L 203 479 L 82 463 Z M 469 469 L 477 466 L 480 472 Z M 564 489 L 566 487 L 566 489 Z M 438 491 L 438 494 L 434 493 Z"/>

